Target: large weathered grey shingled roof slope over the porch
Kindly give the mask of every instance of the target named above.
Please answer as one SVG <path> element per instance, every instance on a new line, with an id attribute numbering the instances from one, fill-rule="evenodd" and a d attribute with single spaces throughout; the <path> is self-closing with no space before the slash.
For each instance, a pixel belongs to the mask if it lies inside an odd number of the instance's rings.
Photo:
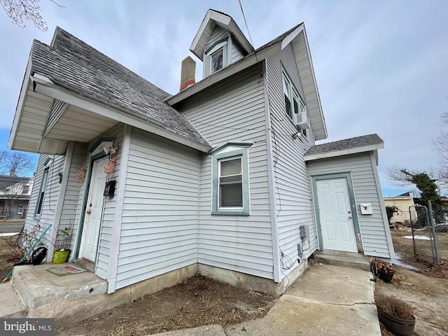
<path id="1" fill-rule="evenodd" d="M 181 112 L 163 102 L 169 94 L 160 87 L 59 27 L 52 45 L 34 40 L 31 73 L 211 148 Z"/>

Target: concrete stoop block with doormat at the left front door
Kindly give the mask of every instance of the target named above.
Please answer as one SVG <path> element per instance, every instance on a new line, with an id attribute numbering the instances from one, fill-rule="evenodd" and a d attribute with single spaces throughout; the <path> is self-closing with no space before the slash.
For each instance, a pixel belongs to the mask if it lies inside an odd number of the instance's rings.
<path id="1" fill-rule="evenodd" d="M 59 265 L 47 263 L 14 267 L 13 286 L 29 309 L 107 292 L 107 281 L 92 272 L 57 276 L 46 270 Z"/>

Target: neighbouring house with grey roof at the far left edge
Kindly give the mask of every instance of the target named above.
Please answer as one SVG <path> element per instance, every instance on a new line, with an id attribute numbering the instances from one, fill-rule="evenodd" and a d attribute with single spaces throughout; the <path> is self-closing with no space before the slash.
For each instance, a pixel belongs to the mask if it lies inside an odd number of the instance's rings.
<path id="1" fill-rule="evenodd" d="M 0 218 L 25 218 L 33 181 L 32 177 L 0 175 Z"/>

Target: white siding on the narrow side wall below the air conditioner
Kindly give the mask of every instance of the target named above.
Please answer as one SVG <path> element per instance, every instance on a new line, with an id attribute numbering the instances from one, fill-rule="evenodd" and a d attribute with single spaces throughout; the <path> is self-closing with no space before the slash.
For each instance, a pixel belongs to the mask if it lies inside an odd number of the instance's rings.
<path id="1" fill-rule="evenodd" d="M 274 160 L 274 189 L 276 221 L 280 250 L 297 266 L 297 244 L 300 244 L 302 260 L 317 248 L 316 225 L 311 207 L 311 189 L 303 155 L 314 144 L 314 134 L 309 130 L 308 139 L 293 139 L 297 128 L 285 114 L 283 96 L 283 66 L 297 90 L 301 89 L 297 66 L 290 47 L 266 60 L 267 87 L 272 122 L 272 152 Z M 309 239 L 300 238 L 300 226 L 308 225 Z M 282 274 L 288 274 L 282 269 Z"/>

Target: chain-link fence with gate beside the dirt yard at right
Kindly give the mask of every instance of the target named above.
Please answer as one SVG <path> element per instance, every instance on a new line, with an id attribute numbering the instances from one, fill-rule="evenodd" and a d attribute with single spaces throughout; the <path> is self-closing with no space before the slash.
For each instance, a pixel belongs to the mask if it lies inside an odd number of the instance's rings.
<path id="1" fill-rule="evenodd" d="M 412 218 L 412 241 L 416 260 L 427 265 L 440 262 L 439 241 L 447 236 L 448 232 L 447 214 L 444 209 L 433 209 L 430 202 L 428 207 L 415 205 L 409 207 L 409 218 Z"/>

